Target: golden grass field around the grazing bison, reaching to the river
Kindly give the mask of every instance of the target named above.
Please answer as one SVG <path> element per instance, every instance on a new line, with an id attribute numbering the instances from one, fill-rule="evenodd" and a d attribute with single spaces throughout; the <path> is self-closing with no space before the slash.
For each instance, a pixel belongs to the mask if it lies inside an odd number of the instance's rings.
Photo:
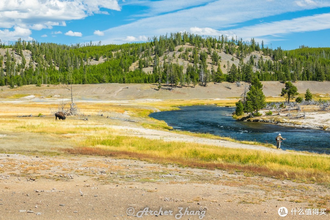
<path id="1" fill-rule="evenodd" d="M 149 162 L 175 163 L 184 167 L 222 169 L 248 175 L 274 176 L 279 179 L 318 183 L 330 187 L 330 157 L 303 153 L 269 153 L 209 144 L 150 140 L 132 137 L 110 125 L 129 125 L 149 129 L 171 130 L 164 121 L 149 118 L 154 110 L 173 110 L 183 105 L 215 104 L 233 106 L 237 100 L 171 100 L 155 102 L 76 103 L 83 116 L 57 120 L 50 112 L 56 104 L 0 103 L 0 151 L 12 153 L 86 154 L 131 158 Z M 102 112 L 103 116 L 98 116 Z M 18 115 L 46 117 L 17 117 Z M 91 115 L 87 121 L 81 118 Z M 135 122 L 107 118 L 126 117 Z M 208 139 L 229 140 L 210 134 L 178 134 Z M 255 142 L 242 142 L 258 144 Z M 265 144 L 259 144 L 265 145 Z M 269 144 L 265 147 L 274 147 Z"/>

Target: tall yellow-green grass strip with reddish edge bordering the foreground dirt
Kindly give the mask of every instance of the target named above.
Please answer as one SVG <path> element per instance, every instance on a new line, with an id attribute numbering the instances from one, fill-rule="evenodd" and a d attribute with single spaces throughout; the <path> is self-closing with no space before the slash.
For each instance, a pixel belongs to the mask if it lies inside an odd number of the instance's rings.
<path id="1" fill-rule="evenodd" d="M 281 179 L 317 182 L 330 186 L 330 157 L 278 154 L 185 142 L 109 135 L 88 137 L 78 147 L 61 149 L 73 154 L 134 158 L 181 166 L 235 170 Z"/>

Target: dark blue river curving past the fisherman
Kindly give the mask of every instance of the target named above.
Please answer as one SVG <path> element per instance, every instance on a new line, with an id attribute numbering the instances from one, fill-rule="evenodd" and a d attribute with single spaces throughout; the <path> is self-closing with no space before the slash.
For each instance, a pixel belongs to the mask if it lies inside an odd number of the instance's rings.
<path id="1" fill-rule="evenodd" d="M 330 154 L 330 132 L 318 129 L 280 126 L 263 122 L 247 122 L 225 116 L 234 108 L 207 106 L 180 107 L 181 110 L 161 111 L 150 117 L 164 120 L 177 130 L 211 133 L 237 140 L 259 141 L 276 145 L 275 137 L 281 133 L 282 149 Z"/>

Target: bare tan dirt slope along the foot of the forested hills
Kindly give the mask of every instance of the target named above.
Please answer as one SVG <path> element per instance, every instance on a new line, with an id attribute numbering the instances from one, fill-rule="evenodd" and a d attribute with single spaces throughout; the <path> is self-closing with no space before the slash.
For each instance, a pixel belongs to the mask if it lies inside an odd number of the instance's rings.
<path id="1" fill-rule="evenodd" d="M 280 96 L 281 89 L 285 87 L 284 83 L 278 81 L 263 81 L 263 92 L 265 96 Z M 330 81 L 297 81 L 293 83 L 298 88 L 298 92 L 305 94 L 309 88 L 311 93 L 319 94 L 320 98 L 329 97 Z M 88 85 L 72 85 L 73 96 L 79 100 L 140 100 L 148 99 L 156 100 L 175 100 L 175 99 L 227 99 L 238 98 L 244 91 L 248 83 L 242 82 L 238 87 L 235 83 L 209 83 L 207 87 L 196 85 L 171 88 L 163 85 L 158 90 L 156 84 L 88 84 Z M 70 85 L 43 85 L 37 87 L 35 85 L 25 85 L 19 88 L 10 89 L 7 86 L 1 86 L 0 98 L 13 97 L 15 95 L 26 95 L 26 99 L 70 99 Z M 24 97 L 24 96 L 23 96 Z"/>

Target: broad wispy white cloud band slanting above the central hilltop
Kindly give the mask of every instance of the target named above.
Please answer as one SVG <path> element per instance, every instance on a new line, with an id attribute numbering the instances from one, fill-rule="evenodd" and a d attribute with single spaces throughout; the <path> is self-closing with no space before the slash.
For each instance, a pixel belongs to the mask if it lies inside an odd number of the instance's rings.
<path id="1" fill-rule="evenodd" d="M 185 0 L 182 1 L 186 2 Z M 243 29 L 241 31 L 241 29 L 235 29 L 235 27 L 250 20 L 260 20 L 269 16 L 274 16 L 272 19 L 276 19 L 276 15 L 284 13 L 330 7 L 330 1 L 300 1 L 309 4 L 302 7 L 298 6 L 296 1 L 287 0 L 217 0 L 210 3 L 201 1 L 201 4 L 198 4 L 196 0 L 191 0 L 191 3 L 189 3 L 191 5 L 188 4 L 188 7 L 184 7 L 181 3 L 177 3 L 172 8 L 166 9 L 167 5 L 171 5 L 171 3 L 174 2 L 173 0 L 127 1 L 127 4 L 151 5 L 148 6 L 150 7 L 150 11 L 152 11 L 151 9 L 157 9 L 157 15 L 147 14 L 147 17 L 135 20 L 131 23 L 104 30 L 103 32 L 106 37 L 102 39 L 102 42 L 104 44 L 135 42 L 139 40 L 136 36 L 147 36 L 152 38 L 153 36 L 180 32 L 182 30 L 189 30 L 190 32 L 201 35 L 217 36 L 223 34 L 227 36 L 237 35 L 238 38 L 243 38 L 244 36 L 253 37 L 253 33 L 252 35 L 249 35 L 251 31 L 248 32 L 248 29 L 245 29 L 245 31 L 247 31 L 247 33 L 245 33 L 243 32 Z M 316 3 L 316 5 L 314 3 Z M 164 9 L 162 9 L 162 7 Z M 166 14 L 166 11 L 171 12 Z M 263 24 L 269 25 L 269 22 L 267 23 L 264 21 Z M 286 28 L 284 28 L 284 30 L 285 29 Z M 234 32 L 234 30 L 237 32 Z M 279 32 L 279 34 L 280 33 L 281 32 Z M 267 35 L 266 31 L 264 31 L 263 36 L 265 35 Z M 95 41 L 98 40 L 92 36 L 86 37 L 86 40 L 90 39 Z"/>

